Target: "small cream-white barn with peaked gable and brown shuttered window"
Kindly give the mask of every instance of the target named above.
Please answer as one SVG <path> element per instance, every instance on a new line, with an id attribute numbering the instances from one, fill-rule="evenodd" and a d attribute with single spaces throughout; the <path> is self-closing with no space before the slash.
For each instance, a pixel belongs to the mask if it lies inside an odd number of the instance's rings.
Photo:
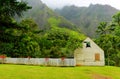
<path id="1" fill-rule="evenodd" d="M 90 38 L 83 42 L 83 48 L 78 48 L 74 52 L 77 66 L 104 66 L 104 51 Z"/>

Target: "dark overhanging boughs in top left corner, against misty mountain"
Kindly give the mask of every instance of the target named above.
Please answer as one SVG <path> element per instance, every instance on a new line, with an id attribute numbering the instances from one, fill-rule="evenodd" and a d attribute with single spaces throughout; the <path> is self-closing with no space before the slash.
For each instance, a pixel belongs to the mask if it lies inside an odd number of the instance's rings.
<path id="1" fill-rule="evenodd" d="M 23 11 L 31 9 L 27 3 L 20 0 L 0 0 L 0 18 L 13 17 L 16 14 L 22 16 Z"/>

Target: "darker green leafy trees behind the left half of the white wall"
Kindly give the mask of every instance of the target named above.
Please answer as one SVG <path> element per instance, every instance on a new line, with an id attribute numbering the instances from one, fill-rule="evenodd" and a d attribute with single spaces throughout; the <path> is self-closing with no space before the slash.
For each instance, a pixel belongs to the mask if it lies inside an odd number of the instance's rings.
<path id="1" fill-rule="evenodd" d="M 0 53 L 10 57 L 39 57 L 39 34 L 35 32 L 39 31 L 37 24 L 31 19 L 23 20 L 20 24 L 13 20 L 8 23 L 9 28 L 1 27 Z"/>

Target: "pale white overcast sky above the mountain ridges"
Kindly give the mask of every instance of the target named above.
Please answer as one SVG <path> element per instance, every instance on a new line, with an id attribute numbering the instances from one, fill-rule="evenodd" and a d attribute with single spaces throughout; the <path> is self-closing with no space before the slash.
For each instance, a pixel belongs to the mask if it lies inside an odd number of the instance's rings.
<path id="1" fill-rule="evenodd" d="M 60 8 L 65 5 L 89 6 L 89 4 L 109 4 L 120 10 L 120 0 L 42 0 L 50 8 Z"/>

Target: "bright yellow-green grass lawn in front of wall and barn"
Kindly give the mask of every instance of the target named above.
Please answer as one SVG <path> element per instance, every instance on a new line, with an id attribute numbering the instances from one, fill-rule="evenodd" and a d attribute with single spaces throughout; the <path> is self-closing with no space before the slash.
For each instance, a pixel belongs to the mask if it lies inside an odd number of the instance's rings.
<path id="1" fill-rule="evenodd" d="M 0 64 L 0 79 L 120 79 L 120 68 Z"/>

